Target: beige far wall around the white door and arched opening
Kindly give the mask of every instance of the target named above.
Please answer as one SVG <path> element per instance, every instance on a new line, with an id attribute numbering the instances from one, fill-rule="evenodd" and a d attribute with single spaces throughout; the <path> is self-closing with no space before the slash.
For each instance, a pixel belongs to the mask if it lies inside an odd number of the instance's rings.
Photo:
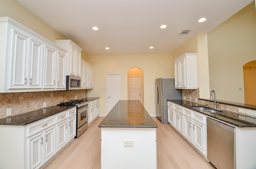
<path id="1" fill-rule="evenodd" d="M 94 65 L 94 89 L 88 89 L 88 97 L 100 97 L 100 114 L 106 114 L 107 74 L 121 74 L 121 96 L 127 100 L 127 73 L 132 67 L 144 72 L 144 107 L 155 115 L 155 79 L 174 78 L 172 54 L 88 55 Z"/>

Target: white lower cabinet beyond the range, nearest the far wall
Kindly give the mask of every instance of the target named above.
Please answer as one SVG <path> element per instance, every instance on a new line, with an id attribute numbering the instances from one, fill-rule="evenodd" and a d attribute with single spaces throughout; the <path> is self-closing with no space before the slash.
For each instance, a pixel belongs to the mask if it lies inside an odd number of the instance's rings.
<path id="1" fill-rule="evenodd" d="M 100 98 L 88 103 L 88 125 L 90 125 L 100 114 Z"/>

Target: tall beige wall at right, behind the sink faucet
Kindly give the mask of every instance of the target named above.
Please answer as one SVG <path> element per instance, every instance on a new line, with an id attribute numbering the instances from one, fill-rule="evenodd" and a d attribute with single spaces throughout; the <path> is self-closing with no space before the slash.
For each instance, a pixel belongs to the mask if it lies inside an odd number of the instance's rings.
<path id="1" fill-rule="evenodd" d="M 208 51 L 210 89 L 219 100 L 244 103 L 243 65 L 256 60 L 255 2 L 208 33 Z"/>

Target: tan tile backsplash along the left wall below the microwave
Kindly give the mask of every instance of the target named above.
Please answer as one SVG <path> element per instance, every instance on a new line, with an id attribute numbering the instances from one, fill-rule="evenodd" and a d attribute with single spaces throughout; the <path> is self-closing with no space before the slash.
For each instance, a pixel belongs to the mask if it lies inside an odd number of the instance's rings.
<path id="1" fill-rule="evenodd" d="M 12 116 L 33 110 L 54 106 L 60 102 L 66 102 L 87 97 L 87 89 L 60 90 L 45 92 L 16 92 L 0 93 L 0 118 L 6 118 L 7 108 L 12 108 Z"/>

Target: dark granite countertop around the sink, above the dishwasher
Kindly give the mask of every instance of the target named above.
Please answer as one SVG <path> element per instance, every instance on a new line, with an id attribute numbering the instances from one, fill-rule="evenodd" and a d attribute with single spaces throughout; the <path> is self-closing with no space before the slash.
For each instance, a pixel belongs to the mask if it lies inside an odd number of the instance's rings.
<path id="1" fill-rule="evenodd" d="M 222 110 L 223 112 L 220 112 L 220 113 L 208 113 L 208 112 L 203 112 L 191 107 L 191 106 L 205 106 L 202 104 L 197 104 L 197 103 L 189 102 L 186 100 L 167 100 L 167 101 L 176 103 L 180 106 L 184 106 L 196 112 L 200 112 L 202 114 L 210 116 L 216 120 L 221 120 L 223 122 L 232 124 L 237 127 L 256 127 L 256 118 L 252 118 L 250 116 L 245 116 L 242 114 L 238 114 L 238 113 L 230 112 L 226 110 Z M 245 119 L 245 120 L 242 120 L 242 119 Z"/>

